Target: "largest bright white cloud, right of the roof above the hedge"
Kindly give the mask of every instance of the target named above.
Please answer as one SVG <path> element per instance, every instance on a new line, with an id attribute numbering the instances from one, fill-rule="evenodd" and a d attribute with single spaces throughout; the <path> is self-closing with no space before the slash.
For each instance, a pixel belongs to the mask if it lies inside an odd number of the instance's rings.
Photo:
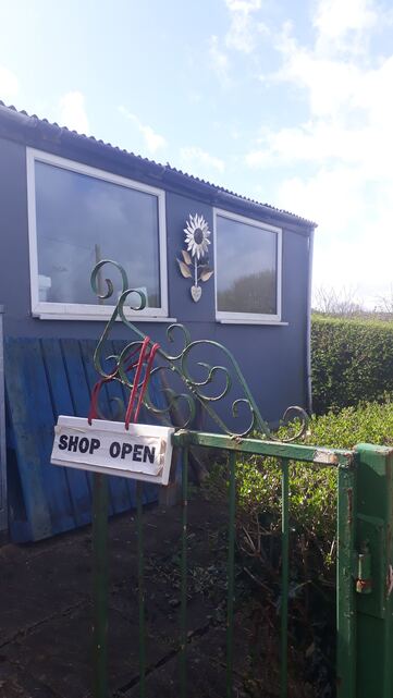
<path id="1" fill-rule="evenodd" d="M 296 172 L 274 203 L 319 223 L 315 286 L 358 286 L 370 307 L 393 280 L 393 49 L 370 50 L 390 21 L 371 0 L 319 0 L 311 46 L 286 23 L 269 77 L 297 91 L 306 118 L 263 125 L 245 157 L 249 168 Z"/>

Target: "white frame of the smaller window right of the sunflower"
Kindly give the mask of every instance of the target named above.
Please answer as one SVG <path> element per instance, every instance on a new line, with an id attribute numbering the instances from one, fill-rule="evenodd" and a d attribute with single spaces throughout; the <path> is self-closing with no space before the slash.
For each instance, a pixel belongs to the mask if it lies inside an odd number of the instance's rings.
<path id="1" fill-rule="evenodd" d="M 277 234 L 277 313 L 267 314 L 267 313 L 230 313 L 226 310 L 218 309 L 218 281 L 220 278 L 220 262 L 217 255 L 217 237 L 218 237 L 218 224 L 217 218 L 228 218 L 232 221 L 238 221 L 240 223 L 245 223 L 247 225 L 253 225 L 254 228 L 260 228 L 263 231 L 269 231 Z M 214 294 L 216 294 L 216 320 L 223 323 L 233 323 L 233 324 L 287 324 L 286 322 L 281 321 L 281 299 L 282 299 L 282 229 L 275 228 L 274 225 L 269 225 L 268 223 L 262 223 L 257 221 L 254 218 L 248 218 L 245 216 L 238 216 L 237 213 L 232 213 L 230 211 L 222 210 L 220 208 L 213 209 L 213 237 L 214 237 Z"/>

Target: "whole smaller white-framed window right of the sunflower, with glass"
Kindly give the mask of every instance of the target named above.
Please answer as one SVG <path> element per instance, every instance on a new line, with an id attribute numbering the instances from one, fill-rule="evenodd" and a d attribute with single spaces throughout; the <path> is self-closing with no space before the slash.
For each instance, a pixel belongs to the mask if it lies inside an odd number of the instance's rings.
<path id="1" fill-rule="evenodd" d="M 281 234 L 259 221 L 214 211 L 217 319 L 281 320 Z"/>

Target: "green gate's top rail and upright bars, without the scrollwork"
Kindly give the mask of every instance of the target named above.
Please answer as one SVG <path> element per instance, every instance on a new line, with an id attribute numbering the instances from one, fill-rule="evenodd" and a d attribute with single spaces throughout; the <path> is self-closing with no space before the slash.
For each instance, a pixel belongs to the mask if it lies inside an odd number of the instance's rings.
<path id="1" fill-rule="evenodd" d="M 391 698 L 391 693 L 356 693 L 356 578 L 354 574 L 356 532 L 356 474 L 358 452 L 339 449 L 319 449 L 299 444 L 233 439 L 224 434 L 181 430 L 173 436 L 173 445 L 182 449 L 182 531 L 181 531 L 181 605 L 179 617 L 180 696 L 187 696 L 187 474 L 189 446 L 199 445 L 229 453 L 229 547 L 228 547 L 228 636 L 226 636 L 226 698 L 233 698 L 233 635 L 234 635 L 234 568 L 235 568 L 235 512 L 236 512 L 236 458 L 240 454 L 275 456 L 282 469 L 282 591 L 281 591 L 281 666 L 280 697 L 288 697 L 287 687 L 287 619 L 290 585 L 290 463 L 304 467 L 319 465 L 337 470 L 337 698 Z M 371 453 L 374 454 L 374 449 Z M 101 476 L 96 476 L 101 477 Z M 139 493 L 142 489 L 139 489 Z M 95 683 L 94 698 L 108 698 L 107 686 L 107 590 L 106 525 L 108 507 L 99 489 L 95 499 L 94 549 L 95 563 Z M 144 544 L 142 497 L 137 497 L 136 525 L 138 534 L 139 578 L 139 696 L 146 696 L 145 609 L 144 609 Z M 366 598 L 366 597 L 365 597 Z M 371 599 L 371 596 L 367 598 Z M 365 621 L 361 621 L 365 624 Z M 367 622 L 366 622 L 367 625 Z M 382 630 L 382 628 L 381 628 Z M 384 681 L 388 681 L 385 678 Z"/>

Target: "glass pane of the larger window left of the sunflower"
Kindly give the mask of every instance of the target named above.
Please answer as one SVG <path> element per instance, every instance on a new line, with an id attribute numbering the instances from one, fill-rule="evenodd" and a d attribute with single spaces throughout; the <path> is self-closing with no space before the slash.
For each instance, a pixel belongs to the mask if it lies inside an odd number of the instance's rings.
<path id="1" fill-rule="evenodd" d="M 148 306 L 159 308 L 157 196 L 38 161 L 35 173 L 40 301 L 98 303 L 91 269 L 113 259 L 131 286 L 147 291 Z M 115 301 L 116 295 L 103 303 Z"/>

